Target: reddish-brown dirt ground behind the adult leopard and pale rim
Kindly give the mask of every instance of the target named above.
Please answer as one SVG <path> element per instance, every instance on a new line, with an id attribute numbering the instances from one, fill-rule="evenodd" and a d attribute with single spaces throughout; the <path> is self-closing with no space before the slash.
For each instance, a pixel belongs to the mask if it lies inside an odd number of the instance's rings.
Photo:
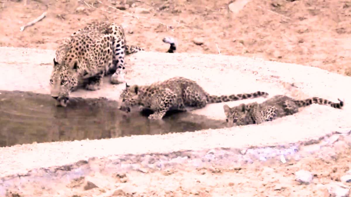
<path id="1" fill-rule="evenodd" d="M 233 6 L 229 6 L 234 2 Z M 46 18 L 20 27 L 47 12 Z M 126 27 L 146 50 L 262 57 L 351 75 L 351 3 L 344 0 L 3 0 L 0 46 L 55 49 L 93 20 Z M 218 46 L 218 48 L 217 48 Z"/>

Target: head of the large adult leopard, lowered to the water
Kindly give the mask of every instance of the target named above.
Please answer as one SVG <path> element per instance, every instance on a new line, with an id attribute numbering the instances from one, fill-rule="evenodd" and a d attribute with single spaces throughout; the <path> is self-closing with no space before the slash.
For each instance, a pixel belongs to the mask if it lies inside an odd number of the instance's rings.
<path id="1" fill-rule="evenodd" d="M 54 67 L 50 77 L 51 96 L 57 106 L 66 107 L 69 94 L 78 86 L 78 62 L 59 63 L 54 58 Z"/>

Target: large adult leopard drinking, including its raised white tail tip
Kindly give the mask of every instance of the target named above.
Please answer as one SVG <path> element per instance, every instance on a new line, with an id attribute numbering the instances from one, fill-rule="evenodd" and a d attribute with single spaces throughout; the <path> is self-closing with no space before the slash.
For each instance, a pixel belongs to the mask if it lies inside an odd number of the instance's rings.
<path id="1" fill-rule="evenodd" d="M 173 38 L 164 38 L 173 53 Z M 88 90 L 100 89 L 102 78 L 112 74 L 111 83 L 124 81 L 124 57 L 143 50 L 126 45 L 124 29 L 114 23 L 93 22 L 63 39 L 56 50 L 50 77 L 51 96 L 57 106 L 67 106 L 69 94 L 83 82 Z"/>

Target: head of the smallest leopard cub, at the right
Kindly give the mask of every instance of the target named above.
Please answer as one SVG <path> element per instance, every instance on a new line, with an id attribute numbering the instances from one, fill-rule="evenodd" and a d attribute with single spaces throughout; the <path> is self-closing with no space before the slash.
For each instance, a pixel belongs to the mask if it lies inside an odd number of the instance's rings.
<path id="1" fill-rule="evenodd" d="M 226 116 L 225 121 L 227 122 L 228 127 L 233 127 L 235 125 L 244 125 L 245 124 L 245 113 L 246 107 L 245 104 L 240 104 L 230 108 L 228 105 L 223 106 L 224 114 Z"/>

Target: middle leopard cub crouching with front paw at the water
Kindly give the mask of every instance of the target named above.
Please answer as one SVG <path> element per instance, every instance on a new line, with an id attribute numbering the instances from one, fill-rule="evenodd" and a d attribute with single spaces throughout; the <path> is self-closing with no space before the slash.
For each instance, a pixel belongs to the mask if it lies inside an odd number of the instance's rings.
<path id="1" fill-rule="evenodd" d="M 130 112 L 133 106 L 142 106 L 154 111 L 148 118 L 160 120 L 168 110 L 187 111 L 199 109 L 207 103 L 237 101 L 255 97 L 266 97 L 268 93 L 257 91 L 249 94 L 216 96 L 206 91 L 193 80 L 184 77 L 155 82 L 146 86 L 128 86 L 120 95 L 120 110 Z"/>

